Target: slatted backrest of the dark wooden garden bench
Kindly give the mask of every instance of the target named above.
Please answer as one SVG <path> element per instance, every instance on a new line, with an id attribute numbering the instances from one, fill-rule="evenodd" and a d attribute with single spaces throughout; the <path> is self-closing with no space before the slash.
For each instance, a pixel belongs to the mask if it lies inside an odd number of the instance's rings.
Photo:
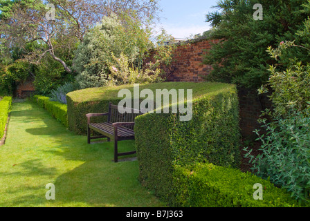
<path id="1" fill-rule="evenodd" d="M 108 122 L 110 123 L 123 123 L 123 122 L 134 122 L 134 119 L 138 117 L 138 115 L 142 115 L 140 110 L 136 110 L 134 108 L 127 108 L 127 113 L 121 114 L 118 111 L 118 106 L 109 104 L 109 116 Z M 138 113 L 134 113 L 134 111 Z M 134 126 L 127 126 L 127 128 L 134 129 Z"/>

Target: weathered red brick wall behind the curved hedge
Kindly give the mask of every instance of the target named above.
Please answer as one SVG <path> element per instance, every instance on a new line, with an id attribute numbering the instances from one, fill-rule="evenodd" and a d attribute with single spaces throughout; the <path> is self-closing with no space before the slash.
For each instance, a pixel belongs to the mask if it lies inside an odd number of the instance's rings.
<path id="1" fill-rule="evenodd" d="M 204 81 L 203 77 L 212 70 L 211 66 L 202 64 L 206 50 L 210 49 L 212 44 L 217 44 L 219 40 L 197 39 L 192 42 L 181 44 L 174 52 L 174 61 L 170 69 L 173 73 L 167 78 L 168 81 Z M 169 72 L 167 67 L 163 70 Z M 239 91 L 239 116 L 240 128 L 243 137 L 255 135 L 253 131 L 260 129 L 257 122 L 259 116 L 266 108 L 271 107 L 268 97 L 258 95 L 257 90 L 247 90 L 238 88 Z"/>

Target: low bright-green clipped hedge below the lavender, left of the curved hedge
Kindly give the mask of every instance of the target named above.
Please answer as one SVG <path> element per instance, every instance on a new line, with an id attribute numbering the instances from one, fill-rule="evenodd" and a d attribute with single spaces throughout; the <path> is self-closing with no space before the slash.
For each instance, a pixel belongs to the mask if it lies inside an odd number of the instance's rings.
<path id="1" fill-rule="evenodd" d="M 67 106 L 60 102 L 51 102 L 49 97 L 44 97 L 41 95 L 35 95 L 30 98 L 31 102 L 38 104 L 40 107 L 44 108 L 48 113 L 51 113 L 57 121 L 61 122 L 64 126 L 68 127 L 68 115 Z"/>

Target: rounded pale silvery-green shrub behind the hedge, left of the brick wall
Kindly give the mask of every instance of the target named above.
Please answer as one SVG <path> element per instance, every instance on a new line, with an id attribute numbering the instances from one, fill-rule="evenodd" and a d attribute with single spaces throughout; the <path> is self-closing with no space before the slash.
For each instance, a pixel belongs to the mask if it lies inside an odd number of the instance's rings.
<path id="1" fill-rule="evenodd" d="M 80 88 L 114 84 L 110 66 L 115 64 L 113 55 L 122 53 L 129 64 L 141 65 L 150 44 L 149 33 L 141 24 L 128 16 L 112 14 L 89 31 L 75 52 L 73 69 L 78 73 Z"/>

